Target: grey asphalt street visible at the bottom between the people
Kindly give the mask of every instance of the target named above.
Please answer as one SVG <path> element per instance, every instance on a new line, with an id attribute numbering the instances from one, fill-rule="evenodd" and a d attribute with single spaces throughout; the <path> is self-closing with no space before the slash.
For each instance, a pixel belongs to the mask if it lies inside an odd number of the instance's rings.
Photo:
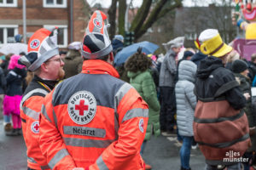
<path id="1" fill-rule="evenodd" d="M 179 148 L 174 141 L 163 136 L 148 141 L 143 159 L 153 167 L 153 170 L 180 169 Z M 199 149 L 191 151 L 190 165 L 192 170 L 204 169 L 204 158 Z M 21 136 L 5 136 L 3 120 L 0 120 L 0 170 L 26 170 L 24 140 Z"/>

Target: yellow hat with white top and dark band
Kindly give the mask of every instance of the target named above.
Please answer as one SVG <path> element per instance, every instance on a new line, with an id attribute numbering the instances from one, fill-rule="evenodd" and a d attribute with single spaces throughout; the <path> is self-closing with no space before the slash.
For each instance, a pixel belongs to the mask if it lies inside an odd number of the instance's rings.
<path id="1" fill-rule="evenodd" d="M 199 40 L 202 42 L 200 50 L 203 54 L 222 57 L 232 51 L 232 47 L 222 41 L 218 30 L 207 29 L 202 31 Z"/>

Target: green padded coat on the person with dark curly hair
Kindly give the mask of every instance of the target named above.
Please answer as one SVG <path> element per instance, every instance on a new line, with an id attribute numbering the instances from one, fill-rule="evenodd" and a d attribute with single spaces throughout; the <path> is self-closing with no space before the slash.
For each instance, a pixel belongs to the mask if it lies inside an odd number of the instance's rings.
<path id="1" fill-rule="evenodd" d="M 148 104 L 148 127 L 145 140 L 150 139 L 151 134 L 160 135 L 160 103 L 157 99 L 153 78 L 149 71 L 128 71 L 127 76 L 130 77 L 131 86 L 137 89 L 137 92 L 143 97 Z"/>

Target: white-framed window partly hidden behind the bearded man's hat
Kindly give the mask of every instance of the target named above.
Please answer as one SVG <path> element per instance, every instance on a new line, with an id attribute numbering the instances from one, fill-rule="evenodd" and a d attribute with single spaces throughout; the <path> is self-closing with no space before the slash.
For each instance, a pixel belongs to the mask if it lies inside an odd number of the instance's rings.
<path id="1" fill-rule="evenodd" d="M 44 26 L 49 27 L 48 26 Z M 58 46 L 59 48 L 67 48 L 67 26 L 57 26 L 58 27 Z"/>

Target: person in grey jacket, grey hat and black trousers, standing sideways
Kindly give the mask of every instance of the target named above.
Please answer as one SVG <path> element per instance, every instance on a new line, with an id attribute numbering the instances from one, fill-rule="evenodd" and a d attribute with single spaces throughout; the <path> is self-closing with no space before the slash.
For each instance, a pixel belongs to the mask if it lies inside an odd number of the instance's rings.
<path id="1" fill-rule="evenodd" d="M 174 115 L 176 113 L 175 77 L 177 65 L 175 58 L 183 46 L 183 42 L 177 37 L 170 42 L 171 48 L 166 53 L 160 68 L 160 130 L 163 135 L 172 135 L 176 129 Z"/>

